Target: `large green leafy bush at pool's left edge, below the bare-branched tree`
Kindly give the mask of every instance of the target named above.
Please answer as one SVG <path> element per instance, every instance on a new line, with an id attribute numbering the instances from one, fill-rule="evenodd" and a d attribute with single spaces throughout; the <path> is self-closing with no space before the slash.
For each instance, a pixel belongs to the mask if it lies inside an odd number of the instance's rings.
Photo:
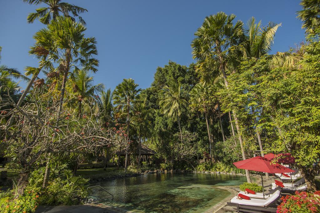
<path id="1" fill-rule="evenodd" d="M 66 165 L 52 169 L 46 188 L 42 188 L 43 178 L 44 168 L 33 171 L 26 187 L 26 191 L 40 192 L 39 204 L 76 205 L 88 194 L 88 180 L 73 176 L 72 172 L 66 169 Z"/>

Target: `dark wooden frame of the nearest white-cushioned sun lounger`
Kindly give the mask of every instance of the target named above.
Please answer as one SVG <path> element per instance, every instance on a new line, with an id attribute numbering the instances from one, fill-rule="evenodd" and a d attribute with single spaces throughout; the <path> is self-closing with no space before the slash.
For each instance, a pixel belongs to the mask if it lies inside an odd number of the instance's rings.
<path id="1" fill-rule="evenodd" d="M 239 212 L 247 212 L 247 213 L 276 212 L 280 197 L 281 197 L 281 194 L 278 196 L 277 199 L 275 199 L 274 202 L 270 203 L 267 206 L 252 206 L 252 205 L 244 205 L 244 204 L 238 204 L 238 203 L 232 203 L 232 202 L 227 202 L 227 205 L 235 206 L 236 211 L 238 213 Z"/>

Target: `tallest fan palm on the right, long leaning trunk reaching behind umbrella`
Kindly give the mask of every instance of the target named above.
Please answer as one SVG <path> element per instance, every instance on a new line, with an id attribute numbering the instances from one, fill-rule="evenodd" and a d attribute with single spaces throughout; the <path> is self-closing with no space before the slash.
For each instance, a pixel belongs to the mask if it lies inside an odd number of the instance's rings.
<path id="1" fill-rule="evenodd" d="M 192 41 L 193 58 L 198 60 L 198 63 L 211 65 L 213 71 L 220 71 L 223 75 L 225 85 L 228 88 L 227 80 L 227 65 L 233 59 L 237 45 L 241 43 L 244 36 L 243 23 L 233 20 L 236 18 L 234 14 L 227 15 L 224 12 L 218 12 L 215 15 L 207 16 L 201 27 L 198 28 L 195 35 L 196 38 Z M 231 57 L 230 57 L 231 56 Z M 215 72 L 215 76 L 219 74 Z M 233 110 L 238 138 L 241 146 L 242 157 L 245 160 L 243 140 L 240 132 L 238 117 Z M 251 182 L 249 171 L 246 170 L 247 181 Z"/>

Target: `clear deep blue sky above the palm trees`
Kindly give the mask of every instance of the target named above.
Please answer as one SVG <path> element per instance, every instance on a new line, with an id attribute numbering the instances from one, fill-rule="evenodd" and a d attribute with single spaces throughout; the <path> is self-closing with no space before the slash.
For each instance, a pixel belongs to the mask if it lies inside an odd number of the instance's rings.
<path id="1" fill-rule="evenodd" d="M 194 62 L 191 41 L 205 16 L 224 11 L 234 13 L 236 20 L 245 23 L 252 16 L 282 23 L 276 33 L 271 53 L 286 51 L 304 40 L 304 30 L 296 11 L 299 0 L 64 0 L 84 7 L 82 17 L 87 23 L 87 37 L 97 39 L 99 71 L 95 83 L 114 89 L 124 78 L 132 78 L 141 88 L 149 87 L 158 66 L 169 60 L 181 65 Z M 41 6 L 41 5 L 40 5 Z M 37 60 L 28 55 L 33 45 L 33 34 L 45 27 L 39 21 L 27 23 L 29 12 L 38 6 L 22 0 L 0 1 L 0 46 L 2 65 L 18 68 L 37 66 Z M 20 85 L 25 87 L 26 83 Z"/>

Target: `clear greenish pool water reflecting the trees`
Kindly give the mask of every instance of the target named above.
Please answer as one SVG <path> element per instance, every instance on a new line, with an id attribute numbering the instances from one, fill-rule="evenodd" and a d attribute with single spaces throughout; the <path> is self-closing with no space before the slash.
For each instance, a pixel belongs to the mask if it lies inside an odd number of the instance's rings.
<path id="1" fill-rule="evenodd" d="M 217 186 L 235 186 L 244 176 L 204 173 L 156 173 L 100 182 L 92 198 L 136 212 L 203 212 L 230 195 Z M 111 198 L 110 198 L 111 197 Z"/>

